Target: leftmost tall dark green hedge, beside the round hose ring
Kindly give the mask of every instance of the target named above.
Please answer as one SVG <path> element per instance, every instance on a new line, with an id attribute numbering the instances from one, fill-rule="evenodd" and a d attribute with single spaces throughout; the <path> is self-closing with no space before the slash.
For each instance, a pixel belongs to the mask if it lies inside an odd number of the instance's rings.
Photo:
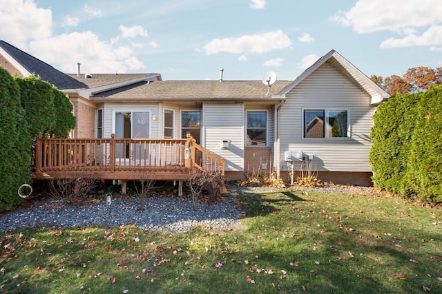
<path id="1" fill-rule="evenodd" d="M 0 67 L 0 211 L 21 202 L 17 190 L 30 182 L 31 143 L 19 85 Z"/>

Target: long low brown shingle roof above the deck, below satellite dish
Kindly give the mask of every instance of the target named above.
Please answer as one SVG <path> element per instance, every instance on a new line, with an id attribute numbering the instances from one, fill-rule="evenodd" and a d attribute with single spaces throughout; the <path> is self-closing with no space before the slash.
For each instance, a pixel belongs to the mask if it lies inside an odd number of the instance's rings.
<path id="1" fill-rule="evenodd" d="M 140 82 L 95 93 L 91 101 L 280 101 L 272 98 L 291 81 L 276 81 L 270 88 L 262 81 L 155 81 Z"/>

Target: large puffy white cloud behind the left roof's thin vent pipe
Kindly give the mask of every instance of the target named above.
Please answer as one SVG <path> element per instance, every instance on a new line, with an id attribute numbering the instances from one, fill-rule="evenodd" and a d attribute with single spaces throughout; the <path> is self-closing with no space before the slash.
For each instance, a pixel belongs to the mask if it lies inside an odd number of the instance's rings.
<path id="1" fill-rule="evenodd" d="M 99 40 L 93 32 L 73 32 L 37 39 L 30 42 L 30 53 L 61 72 L 76 72 L 77 62 L 81 63 L 82 72 L 90 73 L 124 73 L 142 68 L 142 63 L 133 56 L 131 48 L 115 48 Z"/>

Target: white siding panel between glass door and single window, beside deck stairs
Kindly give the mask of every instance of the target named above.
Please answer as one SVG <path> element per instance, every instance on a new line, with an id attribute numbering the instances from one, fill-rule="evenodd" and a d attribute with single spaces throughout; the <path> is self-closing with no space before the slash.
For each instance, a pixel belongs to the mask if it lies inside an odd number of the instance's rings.
<path id="1" fill-rule="evenodd" d="M 244 170 L 244 106 L 204 104 L 202 107 L 204 147 L 225 159 L 226 171 Z M 221 149 L 221 141 L 229 148 Z"/>

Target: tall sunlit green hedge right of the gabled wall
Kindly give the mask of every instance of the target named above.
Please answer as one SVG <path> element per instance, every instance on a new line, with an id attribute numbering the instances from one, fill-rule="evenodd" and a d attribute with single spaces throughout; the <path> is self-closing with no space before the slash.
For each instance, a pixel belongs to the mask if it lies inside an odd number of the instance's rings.
<path id="1" fill-rule="evenodd" d="M 442 87 L 398 94 L 374 115 L 374 185 L 405 198 L 442 202 Z"/>

